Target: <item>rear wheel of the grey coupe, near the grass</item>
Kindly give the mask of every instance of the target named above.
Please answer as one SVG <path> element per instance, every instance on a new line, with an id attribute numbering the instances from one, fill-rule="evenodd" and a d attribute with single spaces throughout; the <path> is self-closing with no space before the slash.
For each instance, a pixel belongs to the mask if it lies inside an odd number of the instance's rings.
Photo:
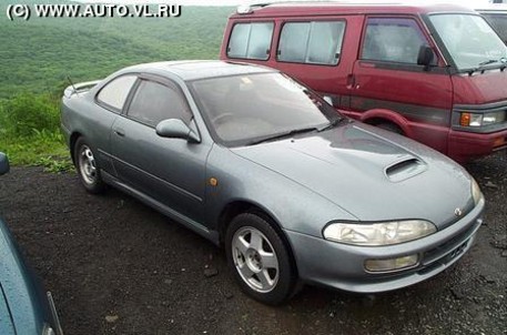
<path id="1" fill-rule="evenodd" d="M 80 138 L 75 142 L 74 162 L 84 189 L 90 193 L 103 192 L 105 184 L 102 181 L 95 154 L 84 138 Z"/>

